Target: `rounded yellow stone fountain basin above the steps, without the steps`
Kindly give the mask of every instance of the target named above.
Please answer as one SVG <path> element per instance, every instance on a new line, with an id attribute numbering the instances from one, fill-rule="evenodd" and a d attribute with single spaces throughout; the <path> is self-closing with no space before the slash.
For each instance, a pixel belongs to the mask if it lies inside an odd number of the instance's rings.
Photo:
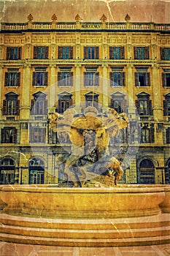
<path id="1" fill-rule="evenodd" d="M 41 217 L 140 217 L 161 213 L 164 187 L 119 185 L 112 188 L 58 188 L 55 185 L 1 186 L 5 212 Z"/>

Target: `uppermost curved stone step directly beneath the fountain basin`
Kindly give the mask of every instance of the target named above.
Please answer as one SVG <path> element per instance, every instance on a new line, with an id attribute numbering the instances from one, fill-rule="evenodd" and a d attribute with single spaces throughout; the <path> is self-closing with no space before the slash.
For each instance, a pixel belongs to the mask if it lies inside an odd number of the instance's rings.
<path id="1" fill-rule="evenodd" d="M 20 227 L 42 227 L 66 230 L 125 230 L 152 227 L 169 227 L 170 214 L 152 217 L 115 218 L 115 219 L 50 219 L 0 214 L 3 225 Z"/>

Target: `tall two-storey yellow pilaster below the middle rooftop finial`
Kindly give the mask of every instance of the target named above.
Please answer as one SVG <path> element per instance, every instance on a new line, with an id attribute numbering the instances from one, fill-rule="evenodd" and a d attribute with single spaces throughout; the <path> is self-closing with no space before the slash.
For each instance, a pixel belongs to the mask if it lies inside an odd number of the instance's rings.
<path id="1" fill-rule="evenodd" d="M 78 113 L 81 113 L 81 64 L 75 64 L 75 108 Z"/>

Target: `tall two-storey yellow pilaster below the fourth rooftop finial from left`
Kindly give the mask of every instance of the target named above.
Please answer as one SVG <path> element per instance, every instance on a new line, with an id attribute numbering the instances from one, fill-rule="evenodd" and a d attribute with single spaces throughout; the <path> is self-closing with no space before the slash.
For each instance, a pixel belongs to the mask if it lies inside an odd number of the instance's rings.
<path id="1" fill-rule="evenodd" d="M 109 99 L 109 95 L 108 95 L 108 86 L 109 86 L 109 80 L 108 80 L 108 75 L 107 75 L 107 69 L 108 69 L 108 65 L 107 64 L 103 64 L 103 74 L 102 74 L 102 111 L 103 113 L 106 112 L 107 108 L 108 108 L 108 99 Z"/>

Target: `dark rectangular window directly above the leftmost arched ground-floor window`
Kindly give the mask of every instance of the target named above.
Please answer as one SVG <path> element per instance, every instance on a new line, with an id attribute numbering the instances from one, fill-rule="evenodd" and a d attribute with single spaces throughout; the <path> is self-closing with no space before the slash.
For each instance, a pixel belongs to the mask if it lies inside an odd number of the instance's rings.
<path id="1" fill-rule="evenodd" d="M 17 129 L 12 127 L 1 129 L 1 143 L 17 143 Z"/>

